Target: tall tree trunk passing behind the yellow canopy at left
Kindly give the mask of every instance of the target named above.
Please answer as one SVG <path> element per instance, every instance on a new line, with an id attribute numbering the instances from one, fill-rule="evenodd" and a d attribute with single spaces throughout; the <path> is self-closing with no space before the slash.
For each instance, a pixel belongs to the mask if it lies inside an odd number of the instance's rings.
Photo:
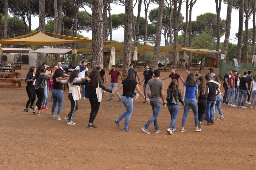
<path id="1" fill-rule="evenodd" d="M 45 30 L 45 0 L 39 0 L 39 30 Z M 44 46 L 38 46 L 38 48 L 44 48 Z M 37 53 L 36 68 L 44 62 L 44 53 Z"/>

